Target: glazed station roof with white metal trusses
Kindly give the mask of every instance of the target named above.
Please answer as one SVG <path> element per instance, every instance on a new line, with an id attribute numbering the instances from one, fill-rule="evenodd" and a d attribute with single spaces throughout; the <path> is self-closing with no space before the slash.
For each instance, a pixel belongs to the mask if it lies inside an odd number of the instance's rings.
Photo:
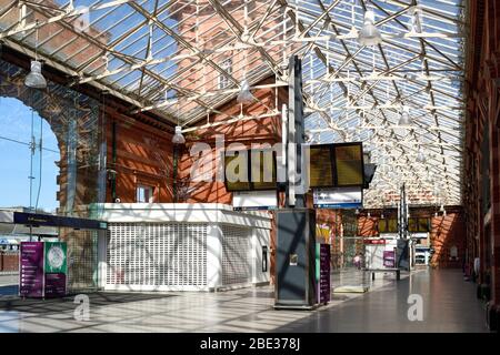
<path id="1" fill-rule="evenodd" d="M 403 182 L 410 203 L 460 204 L 466 4 L 0 0 L 0 40 L 37 49 L 74 85 L 109 90 L 184 128 L 208 112 L 244 119 L 218 108 L 243 79 L 251 89 L 268 78 L 268 88 L 286 85 L 288 58 L 298 54 L 310 142 L 363 141 L 378 164 L 368 206 L 394 204 Z M 373 47 L 358 41 L 367 10 L 382 36 Z M 409 126 L 399 125 L 404 110 Z"/>

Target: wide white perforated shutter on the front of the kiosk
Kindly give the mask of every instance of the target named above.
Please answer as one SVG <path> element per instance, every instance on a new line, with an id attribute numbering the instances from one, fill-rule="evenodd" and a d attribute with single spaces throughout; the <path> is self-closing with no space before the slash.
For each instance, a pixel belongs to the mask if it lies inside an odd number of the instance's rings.
<path id="1" fill-rule="evenodd" d="M 108 285 L 207 285 L 207 224 L 111 223 Z"/>

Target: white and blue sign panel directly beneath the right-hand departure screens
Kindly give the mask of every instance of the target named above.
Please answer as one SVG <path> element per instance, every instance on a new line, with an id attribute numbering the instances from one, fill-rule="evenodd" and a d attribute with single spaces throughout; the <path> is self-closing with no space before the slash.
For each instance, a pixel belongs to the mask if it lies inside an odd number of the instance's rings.
<path id="1" fill-rule="evenodd" d="M 363 204 L 361 187 L 314 189 L 316 209 L 359 209 Z"/>

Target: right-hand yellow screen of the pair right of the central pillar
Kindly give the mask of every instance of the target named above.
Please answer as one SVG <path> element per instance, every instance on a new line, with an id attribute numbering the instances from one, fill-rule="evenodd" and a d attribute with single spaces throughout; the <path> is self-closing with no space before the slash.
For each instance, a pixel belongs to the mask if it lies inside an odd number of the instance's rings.
<path id="1" fill-rule="evenodd" d="M 364 182 L 361 143 L 334 145 L 337 186 L 359 186 Z"/>

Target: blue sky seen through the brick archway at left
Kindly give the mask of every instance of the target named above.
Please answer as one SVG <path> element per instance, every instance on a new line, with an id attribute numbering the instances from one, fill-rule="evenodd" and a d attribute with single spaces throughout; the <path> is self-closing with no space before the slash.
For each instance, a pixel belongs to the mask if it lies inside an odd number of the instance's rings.
<path id="1" fill-rule="evenodd" d="M 43 132 L 43 146 L 59 151 L 56 135 L 46 120 L 33 114 L 36 141 Z M 41 124 L 41 125 L 40 125 Z M 0 98 L 0 207 L 30 205 L 30 149 L 20 143 L 7 141 L 12 139 L 29 143 L 31 141 L 31 109 L 21 101 L 11 98 Z M 56 192 L 56 176 L 59 168 L 54 164 L 59 153 L 44 150 L 42 152 L 42 169 L 40 175 L 40 152 L 33 155 L 33 205 L 37 200 L 38 187 L 41 189 L 38 206 L 46 211 L 54 211 L 58 206 Z"/>

